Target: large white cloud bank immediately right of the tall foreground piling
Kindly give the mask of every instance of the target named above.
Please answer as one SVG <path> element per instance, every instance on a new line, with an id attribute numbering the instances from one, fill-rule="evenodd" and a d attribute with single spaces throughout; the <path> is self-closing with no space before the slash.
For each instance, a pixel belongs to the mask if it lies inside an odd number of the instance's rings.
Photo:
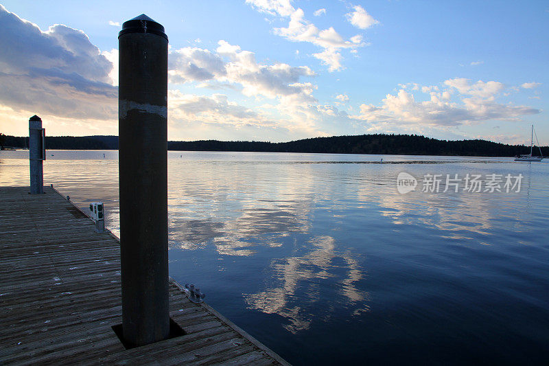
<path id="1" fill-rule="evenodd" d="M 209 97 L 170 91 L 172 133 L 176 126 L 192 126 L 195 131 L 216 128 L 224 131 L 220 138 L 226 139 L 235 135 L 235 130 L 229 130 L 233 125 L 241 133 L 240 139 L 250 135 L 253 139 L 264 139 L 266 131 L 274 139 L 287 139 L 290 134 L 315 135 L 316 85 L 302 80 L 315 76 L 309 67 L 257 62 L 253 52 L 223 40 L 211 51 L 196 47 L 173 50 L 169 63 L 170 82 L 174 84 L 198 82 L 199 87 L 229 87 L 255 101 L 270 100 L 252 110 L 229 102 L 221 94 Z"/>

